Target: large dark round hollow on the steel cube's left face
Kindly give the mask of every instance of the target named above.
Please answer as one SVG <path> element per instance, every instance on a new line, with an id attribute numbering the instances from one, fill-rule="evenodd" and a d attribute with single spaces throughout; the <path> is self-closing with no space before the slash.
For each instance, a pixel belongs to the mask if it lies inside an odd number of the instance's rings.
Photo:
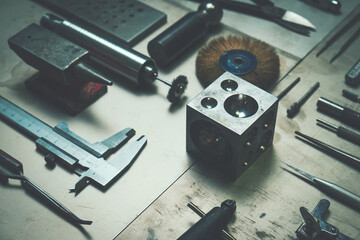
<path id="1" fill-rule="evenodd" d="M 207 160 L 226 162 L 231 159 L 231 146 L 221 131 L 203 120 L 194 122 L 190 127 L 190 136 L 197 149 Z"/>

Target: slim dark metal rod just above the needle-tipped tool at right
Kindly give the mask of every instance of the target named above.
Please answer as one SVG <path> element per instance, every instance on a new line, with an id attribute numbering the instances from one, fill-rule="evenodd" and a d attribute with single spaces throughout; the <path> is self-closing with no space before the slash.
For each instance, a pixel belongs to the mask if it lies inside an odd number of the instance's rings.
<path id="1" fill-rule="evenodd" d="M 350 153 L 347 153 L 347 152 L 344 152 L 340 149 L 337 149 L 333 146 L 330 146 L 329 144 L 326 144 L 324 142 L 321 142 L 315 138 L 312 138 L 310 136 L 307 136 L 301 132 L 298 132 L 298 131 L 295 131 L 295 134 L 302 137 L 298 137 L 296 136 L 298 139 L 310 144 L 311 146 L 329 154 L 330 156 L 333 156 L 339 160 L 342 160 L 344 161 L 345 163 L 357 168 L 357 169 L 360 169 L 360 158 L 354 156 L 354 155 L 351 155 Z"/>

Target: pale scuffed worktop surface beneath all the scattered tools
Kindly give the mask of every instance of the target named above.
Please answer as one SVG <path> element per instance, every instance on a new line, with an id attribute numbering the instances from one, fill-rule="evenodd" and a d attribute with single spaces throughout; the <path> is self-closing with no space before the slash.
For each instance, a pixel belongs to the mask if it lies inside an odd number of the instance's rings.
<path id="1" fill-rule="evenodd" d="M 166 25 L 134 47 L 144 55 L 147 55 L 147 43 L 152 38 L 188 12 L 195 11 L 198 6 L 193 2 L 175 0 L 143 2 L 168 14 Z M 9 37 L 24 26 L 38 23 L 40 17 L 49 10 L 32 1 L 1 1 L 2 96 L 51 126 L 61 121 L 69 123 L 71 128 L 76 129 L 77 133 L 89 142 L 113 135 L 127 126 L 148 137 L 147 147 L 116 184 L 106 192 L 88 187 L 75 197 L 68 193 L 67 187 L 76 181 L 77 176 L 64 171 L 61 166 L 54 170 L 47 169 L 42 160 L 43 156 L 35 151 L 33 142 L 21 132 L 0 122 L 0 146 L 23 160 L 26 175 L 39 185 L 46 186 L 54 197 L 79 216 L 93 220 L 91 226 L 85 226 L 83 229 L 74 228 L 38 202 L 29 201 L 16 183 L 11 183 L 12 186 L 1 186 L 2 237 L 176 239 L 199 219 L 186 207 L 189 201 L 208 212 L 224 199 L 235 199 L 238 203 L 237 210 L 228 225 L 229 232 L 235 238 L 295 239 L 294 232 L 303 222 L 299 207 L 315 206 L 325 195 L 283 171 L 279 160 L 295 166 L 301 165 L 304 171 L 325 179 L 329 179 L 326 172 L 331 172 L 335 176 L 332 181 L 359 194 L 357 183 L 360 181 L 360 175 L 357 171 L 311 147 L 299 145 L 301 142 L 299 143 L 293 134 L 294 130 L 306 130 L 312 137 L 326 138 L 329 143 L 347 152 L 358 151 L 357 145 L 351 145 L 315 125 L 317 117 L 330 120 L 315 110 L 317 98 L 320 96 L 331 97 L 341 105 L 360 110 L 360 105 L 344 99 L 341 93 L 337 92 L 337 89 L 345 88 L 344 76 L 358 59 L 356 55 L 360 51 L 359 40 L 332 65 L 328 62 L 343 43 L 341 39 L 339 44 L 335 43 L 329 47 L 320 57 L 315 56 L 325 44 L 323 38 L 339 31 L 342 25 L 337 24 L 351 17 L 351 11 L 359 12 L 359 7 L 356 7 L 359 5 L 358 1 L 349 0 L 346 3 L 341 14 L 335 16 L 301 1 L 276 1 L 277 5 L 299 13 L 317 27 L 317 32 L 313 32 L 310 37 L 292 33 L 263 19 L 225 10 L 219 29 L 189 49 L 171 67 L 160 70 L 160 74 L 166 79 L 173 79 L 179 74 L 188 76 L 189 86 L 184 105 L 175 108 L 169 106 L 165 100 L 166 94 L 161 94 L 167 92 L 168 87 L 165 85 L 158 84 L 157 89 L 142 91 L 127 84 L 115 83 L 109 88 L 108 93 L 91 107 L 71 117 L 26 90 L 24 81 L 30 78 L 35 70 L 19 59 L 6 44 Z M 281 65 L 279 80 L 282 80 L 273 87 L 272 94 L 277 95 L 295 78 L 301 76 L 301 82 L 279 102 L 273 147 L 234 182 L 225 181 L 213 168 L 198 164 L 197 159 L 189 156 L 185 150 L 185 102 L 203 90 L 195 76 L 196 53 L 209 38 L 229 34 L 251 36 L 275 46 Z M 346 36 L 344 37 L 346 39 Z M 311 51 L 312 49 L 314 51 Z M 286 77 L 283 79 L 284 76 Z M 287 119 L 286 108 L 298 100 L 315 81 L 320 81 L 320 89 L 304 104 L 294 119 Z M 355 88 L 355 91 L 358 91 L 358 88 Z M 108 160 L 111 161 L 112 157 Z M 330 200 L 331 215 L 335 216 L 331 218 L 332 224 L 344 234 L 359 239 L 359 214 L 335 199 Z M 19 206 L 22 208 L 19 209 Z"/>

